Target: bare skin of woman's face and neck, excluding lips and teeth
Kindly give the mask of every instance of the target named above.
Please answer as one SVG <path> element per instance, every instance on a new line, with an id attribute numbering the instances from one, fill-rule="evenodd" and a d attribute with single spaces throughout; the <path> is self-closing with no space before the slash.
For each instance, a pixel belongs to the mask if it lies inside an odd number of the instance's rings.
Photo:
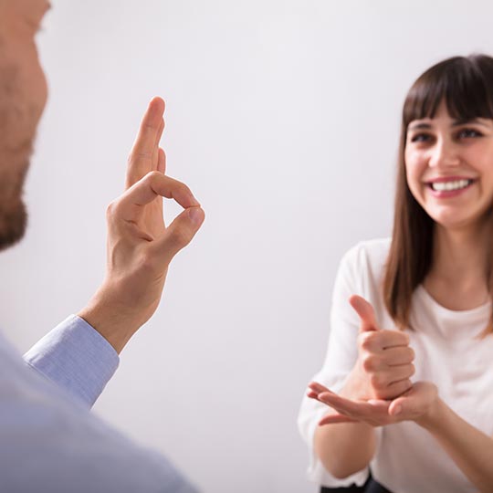
<path id="1" fill-rule="evenodd" d="M 433 121 L 410 123 L 404 157 L 409 188 L 435 220 L 425 288 L 447 309 L 476 308 L 489 299 L 485 273 L 492 233 L 493 121 L 455 121 L 442 103 Z M 475 181 L 455 197 L 435 197 L 426 183 L 448 176 Z"/>

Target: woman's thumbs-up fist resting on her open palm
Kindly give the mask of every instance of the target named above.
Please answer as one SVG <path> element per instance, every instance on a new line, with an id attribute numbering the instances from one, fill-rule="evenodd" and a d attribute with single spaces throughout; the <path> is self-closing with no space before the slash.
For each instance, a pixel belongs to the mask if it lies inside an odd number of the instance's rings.
<path id="1" fill-rule="evenodd" d="M 341 390 L 355 400 L 392 400 L 408 391 L 414 374 L 414 351 L 409 336 L 398 330 L 378 327 L 372 305 L 360 296 L 350 298 L 361 324 L 358 335 L 358 360 Z"/>

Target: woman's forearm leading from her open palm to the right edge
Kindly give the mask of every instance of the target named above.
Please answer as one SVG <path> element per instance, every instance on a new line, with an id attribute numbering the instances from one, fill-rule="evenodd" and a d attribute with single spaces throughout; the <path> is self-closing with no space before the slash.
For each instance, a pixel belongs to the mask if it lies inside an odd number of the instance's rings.
<path id="1" fill-rule="evenodd" d="M 441 399 L 417 423 L 435 436 L 479 491 L 493 491 L 493 438 L 469 425 Z"/>

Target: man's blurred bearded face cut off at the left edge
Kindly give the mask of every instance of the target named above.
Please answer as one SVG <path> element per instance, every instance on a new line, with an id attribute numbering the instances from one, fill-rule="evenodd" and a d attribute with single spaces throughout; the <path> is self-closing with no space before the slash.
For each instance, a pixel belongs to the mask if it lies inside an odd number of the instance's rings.
<path id="1" fill-rule="evenodd" d="M 46 0 L 0 0 L 0 249 L 26 231 L 22 194 L 47 83 L 35 36 Z"/>

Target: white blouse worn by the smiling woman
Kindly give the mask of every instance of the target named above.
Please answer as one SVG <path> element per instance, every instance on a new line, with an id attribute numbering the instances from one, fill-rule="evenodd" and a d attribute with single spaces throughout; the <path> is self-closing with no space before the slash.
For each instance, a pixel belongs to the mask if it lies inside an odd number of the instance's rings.
<path id="1" fill-rule="evenodd" d="M 383 267 L 390 240 L 364 242 L 342 258 L 330 313 L 330 337 L 323 366 L 313 380 L 338 392 L 356 362 L 359 318 L 348 302 L 358 294 L 372 303 L 382 329 L 396 330 L 383 304 Z M 433 382 L 441 398 L 470 425 L 493 435 L 493 336 L 477 335 L 488 324 L 491 304 L 452 311 L 418 287 L 413 296 L 408 330 L 415 351 L 412 380 Z M 335 487 L 362 485 L 367 469 L 336 479 L 313 451 L 313 435 L 327 407 L 304 397 L 299 430 L 309 446 L 309 478 Z M 395 493 L 467 493 L 477 491 L 435 438 L 413 422 L 376 428 L 377 449 L 372 475 Z M 492 464 L 493 467 L 493 464 Z"/>

